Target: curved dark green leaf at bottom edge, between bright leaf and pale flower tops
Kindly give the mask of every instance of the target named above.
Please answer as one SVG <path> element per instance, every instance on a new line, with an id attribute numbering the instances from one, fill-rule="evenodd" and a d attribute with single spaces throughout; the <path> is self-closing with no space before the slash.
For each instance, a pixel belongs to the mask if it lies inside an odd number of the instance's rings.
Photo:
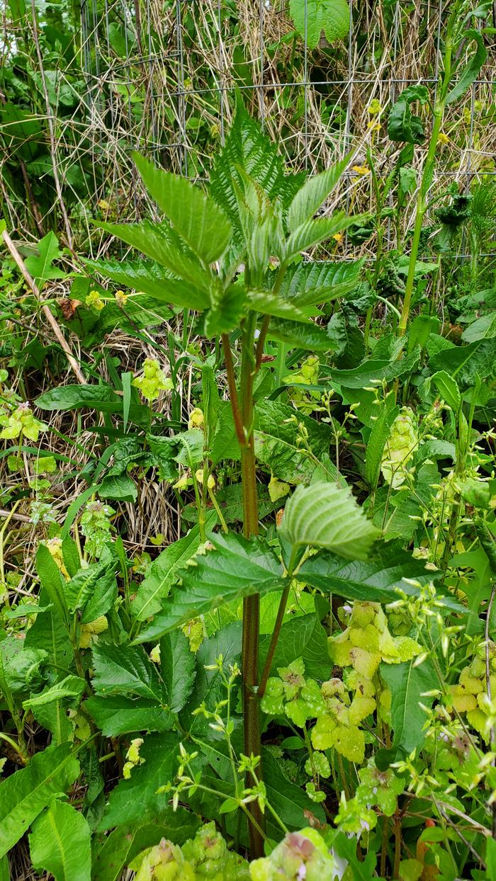
<path id="1" fill-rule="evenodd" d="M 163 838 L 184 844 L 194 838 L 200 821 L 185 808 L 167 807 L 156 818 L 140 818 L 131 825 L 119 825 L 106 835 L 93 855 L 93 881 L 119 881 L 123 870 L 137 855 L 159 844 Z"/>

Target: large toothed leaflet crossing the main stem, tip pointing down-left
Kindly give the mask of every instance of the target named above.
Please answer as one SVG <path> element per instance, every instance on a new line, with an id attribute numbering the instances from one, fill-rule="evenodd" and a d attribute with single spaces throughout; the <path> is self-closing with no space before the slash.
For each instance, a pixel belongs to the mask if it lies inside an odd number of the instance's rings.
<path id="1" fill-rule="evenodd" d="M 175 627 L 243 596 L 285 587 L 282 566 L 260 538 L 211 535 L 211 550 L 196 554 L 181 573 L 162 611 L 137 637 L 155 640 Z"/>

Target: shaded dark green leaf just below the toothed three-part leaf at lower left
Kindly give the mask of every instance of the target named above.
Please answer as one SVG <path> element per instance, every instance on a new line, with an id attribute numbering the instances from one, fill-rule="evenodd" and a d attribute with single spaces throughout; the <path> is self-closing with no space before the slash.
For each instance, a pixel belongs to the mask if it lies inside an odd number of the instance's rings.
<path id="1" fill-rule="evenodd" d="M 136 766 L 129 780 L 119 781 L 110 793 L 98 827 L 105 832 L 116 825 L 134 825 L 147 814 L 167 810 L 170 793 L 157 790 L 174 780 L 177 773 L 180 738 L 177 734 L 152 734 L 139 751 L 144 764 Z"/>

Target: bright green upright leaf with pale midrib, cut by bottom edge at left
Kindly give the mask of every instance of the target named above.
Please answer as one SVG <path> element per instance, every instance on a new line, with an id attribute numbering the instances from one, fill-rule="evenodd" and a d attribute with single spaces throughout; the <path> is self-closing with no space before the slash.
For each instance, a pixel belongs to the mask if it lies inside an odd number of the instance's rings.
<path id="1" fill-rule="evenodd" d="M 29 836 L 33 868 L 49 872 L 55 881 L 90 881 L 91 836 L 83 814 L 67 802 L 53 799 Z"/>

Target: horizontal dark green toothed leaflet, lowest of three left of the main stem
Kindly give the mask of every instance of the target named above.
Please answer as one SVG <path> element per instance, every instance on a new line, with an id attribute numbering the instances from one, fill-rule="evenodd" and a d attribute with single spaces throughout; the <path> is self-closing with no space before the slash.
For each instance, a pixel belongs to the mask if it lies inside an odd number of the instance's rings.
<path id="1" fill-rule="evenodd" d="M 104 737 L 118 737 L 132 731 L 168 731 L 174 725 L 174 717 L 167 709 L 156 700 L 142 697 L 93 696 L 85 701 L 84 707 Z"/>

